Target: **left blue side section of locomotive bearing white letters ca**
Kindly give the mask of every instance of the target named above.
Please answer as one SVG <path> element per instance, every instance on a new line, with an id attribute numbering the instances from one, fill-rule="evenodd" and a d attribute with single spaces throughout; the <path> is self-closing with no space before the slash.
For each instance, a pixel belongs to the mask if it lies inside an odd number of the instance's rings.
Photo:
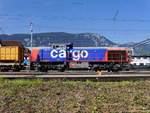
<path id="1" fill-rule="evenodd" d="M 49 62 L 65 62 L 66 50 L 55 50 L 55 49 L 40 49 L 39 50 L 39 61 Z"/>

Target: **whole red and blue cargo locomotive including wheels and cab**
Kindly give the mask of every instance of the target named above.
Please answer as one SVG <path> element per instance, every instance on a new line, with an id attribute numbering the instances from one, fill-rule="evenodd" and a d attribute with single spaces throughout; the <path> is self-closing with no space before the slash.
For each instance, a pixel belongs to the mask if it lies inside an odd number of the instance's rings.
<path id="1" fill-rule="evenodd" d="M 31 69 L 39 71 L 68 70 L 76 65 L 86 64 L 89 70 L 121 71 L 127 70 L 130 63 L 128 49 L 116 48 L 73 48 L 53 45 L 50 48 L 33 49 L 30 59 Z"/>

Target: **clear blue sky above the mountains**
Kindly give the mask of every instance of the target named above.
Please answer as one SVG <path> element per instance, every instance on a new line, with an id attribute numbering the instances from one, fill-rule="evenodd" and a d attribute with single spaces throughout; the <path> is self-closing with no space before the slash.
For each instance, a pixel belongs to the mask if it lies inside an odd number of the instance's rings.
<path id="1" fill-rule="evenodd" d="M 0 0 L 0 34 L 98 33 L 116 43 L 150 38 L 150 0 Z"/>

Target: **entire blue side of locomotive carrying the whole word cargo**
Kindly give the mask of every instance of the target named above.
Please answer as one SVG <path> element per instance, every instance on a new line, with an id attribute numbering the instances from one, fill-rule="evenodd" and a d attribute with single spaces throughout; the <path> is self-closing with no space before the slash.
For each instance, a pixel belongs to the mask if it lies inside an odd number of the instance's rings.
<path id="1" fill-rule="evenodd" d="M 105 54 L 106 49 L 40 49 L 37 61 L 102 61 Z"/>

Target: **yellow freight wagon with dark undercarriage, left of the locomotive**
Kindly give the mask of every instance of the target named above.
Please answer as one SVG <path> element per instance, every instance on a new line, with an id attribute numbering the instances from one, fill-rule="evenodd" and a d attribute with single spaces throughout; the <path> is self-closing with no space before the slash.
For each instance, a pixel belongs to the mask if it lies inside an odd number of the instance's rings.
<path id="1" fill-rule="evenodd" d="M 16 41 L 0 41 L 0 71 L 19 71 L 23 67 L 24 47 Z"/>

